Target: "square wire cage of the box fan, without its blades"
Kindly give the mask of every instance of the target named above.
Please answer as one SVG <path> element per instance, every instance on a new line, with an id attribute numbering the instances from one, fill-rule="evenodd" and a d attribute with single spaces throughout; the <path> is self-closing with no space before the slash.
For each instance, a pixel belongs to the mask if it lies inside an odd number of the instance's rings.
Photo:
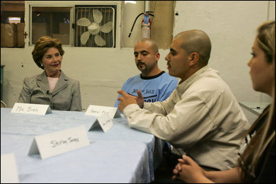
<path id="1" fill-rule="evenodd" d="M 81 44 L 81 34 L 83 32 L 87 32 L 88 28 L 86 26 L 77 25 L 75 29 L 75 47 L 86 47 L 86 48 L 115 48 L 115 38 L 116 38 L 116 28 L 115 24 L 115 8 L 108 6 L 81 6 L 75 7 L 75 20 L 79 20 L 81 18 L 87 18 L 90 22 L 94 22 L 93 18 L 93 10 L 99 10 L 103 15 L 103 19 L 99 23 L 99 25 L 104 25 L 109 21 L 112 21 L 112 30 L 108 33 L 99 32 L 99 36 L 106 41 L 106 45 L 99 46 L 95 43 L 94 38 L 96 35 L 90 34 L 90 37 L 85 45 Z"/>

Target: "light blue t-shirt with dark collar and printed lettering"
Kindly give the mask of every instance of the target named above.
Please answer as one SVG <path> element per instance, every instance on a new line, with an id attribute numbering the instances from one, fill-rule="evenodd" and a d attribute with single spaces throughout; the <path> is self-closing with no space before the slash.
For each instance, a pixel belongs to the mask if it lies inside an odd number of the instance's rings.
<path id="1" fill-rule="evenodd" d="M 145 102 L 155 102 L 166 100 L 177 88 L 177 83 L 178 80 L 175 77 L 162 71 L 155 76 L 142 76 L 141 74 L 133 76 L 124 83 L 121 89 L 132 96 L 137 96 L 137 90 L 141 90 Z M 117 100 L 114 106 L 118 107 L 118 105 Z"/>

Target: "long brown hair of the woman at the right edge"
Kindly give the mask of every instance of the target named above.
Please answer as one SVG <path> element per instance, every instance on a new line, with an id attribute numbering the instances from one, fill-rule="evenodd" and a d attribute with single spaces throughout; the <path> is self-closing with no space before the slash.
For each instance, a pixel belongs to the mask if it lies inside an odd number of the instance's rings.
<path id="1" fill-rule="evenodd" d="M 274 79 L 271 84 L 273 85 L 273 101 L 270 108 L 255 121 L 247 132 L 248 134 L 255 130 L 259 121 L 266 115 L 264 124 L 259 127 L 238 161 L 239 167 L 242 168 L 242 178 L 247 182 L 255 177 L 258 165 L 262 164 L 259 163 L 259 160 L 264 156 L 264 151 L 270 142 L 275 140 L 275 21 L 266 22 L 258 28 L 257 43 L 259 48 L 264 51 L 266 61 L 274 66 Z"/>

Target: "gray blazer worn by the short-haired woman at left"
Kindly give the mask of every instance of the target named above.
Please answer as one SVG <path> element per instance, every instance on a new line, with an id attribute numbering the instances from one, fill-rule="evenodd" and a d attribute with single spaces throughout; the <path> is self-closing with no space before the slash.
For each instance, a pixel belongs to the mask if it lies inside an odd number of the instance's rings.
<path id="1" fill-rule="evenodd" d="M 82 111 L 79 81 L 70 79 L 62 71 L 52 93 L 45 71 L 26 77 L 18 102 L 50 105 L 51 110 Z"/>

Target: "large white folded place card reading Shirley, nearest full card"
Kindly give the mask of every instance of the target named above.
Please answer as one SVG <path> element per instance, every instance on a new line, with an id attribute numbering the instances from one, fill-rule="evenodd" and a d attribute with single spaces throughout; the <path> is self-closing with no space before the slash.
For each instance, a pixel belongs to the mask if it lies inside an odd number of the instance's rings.
<path id="1" fill-rule="evenodd" d="M 28 155 L 40 154 L 41 159 L 89 145 L 85 126 L 35 136 Z"/>

